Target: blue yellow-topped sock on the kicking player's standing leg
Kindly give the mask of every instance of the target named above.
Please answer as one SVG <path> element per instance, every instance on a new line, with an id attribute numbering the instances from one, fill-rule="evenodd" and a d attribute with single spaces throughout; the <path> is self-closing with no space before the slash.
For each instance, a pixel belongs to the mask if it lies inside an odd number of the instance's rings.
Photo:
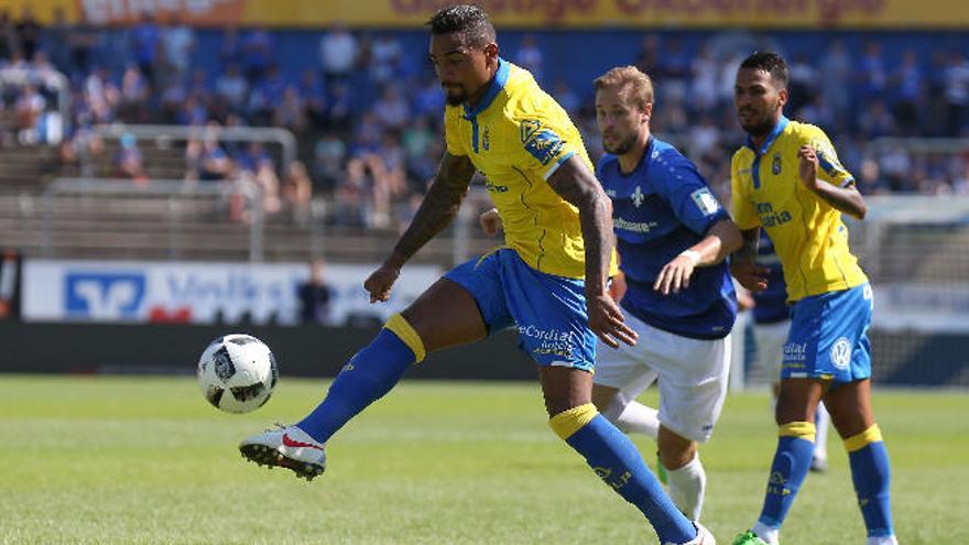
<path id="1" fill-rule="evenodd" d="M 592 404 L 555 415 L 552 428 L 586 458 L 589 467 L 653 525 L 660 543 L 686 543 L 696 527 L 676 509 L 663 486 L 646 467 L 635 445 Z"/>

